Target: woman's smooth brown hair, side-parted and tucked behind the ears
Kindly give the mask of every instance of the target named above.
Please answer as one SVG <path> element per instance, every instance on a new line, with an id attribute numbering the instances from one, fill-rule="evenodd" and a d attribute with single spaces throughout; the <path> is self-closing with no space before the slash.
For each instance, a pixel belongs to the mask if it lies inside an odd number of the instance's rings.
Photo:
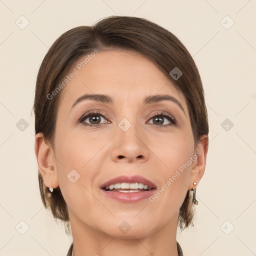
<path id="1" fill-rule="evenodd" d="M 147 19 L 132 16 L 105 17 L 92 26 L 74 27 L 54 41 L 37 74 L 33 105 L 35 134 L 43 132 L 45 141 L 54 147 L 56 114 L 62 90 L 50 100 L 47 95 L 57 88 L 75 61 L 95 49 L 126 49 L 148 57 L 184 95 L 194 145 L 200 141 L 201 135 L 208 134 L 204 92 L 193 58 L 174 34 Z M 174 67 L 182 72 L 178 79 L 169 74 Z M 38 180 L 44 207 L 51 210 L 55 220 L 64 221 L 66 233 L 70 233 L 67 206 L 59 187 L 49 192 L 39 170 Z M 181 230 L 193 225 L 194 208 L 190 191 L 187 191 L 179 209 L 178 225 Z"/>

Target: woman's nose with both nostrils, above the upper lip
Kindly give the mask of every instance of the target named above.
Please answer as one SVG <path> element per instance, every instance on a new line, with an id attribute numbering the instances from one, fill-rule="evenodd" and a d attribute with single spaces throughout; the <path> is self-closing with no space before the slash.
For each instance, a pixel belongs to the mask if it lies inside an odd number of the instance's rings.
<path id="1" fill-rule="evenodd" d="M 142 130 L 132 124 L 126 131 L 117 127 L 112 140 L 111 158 L 113 161 L 144 162 L 148 160 L 148 139 Z"/>

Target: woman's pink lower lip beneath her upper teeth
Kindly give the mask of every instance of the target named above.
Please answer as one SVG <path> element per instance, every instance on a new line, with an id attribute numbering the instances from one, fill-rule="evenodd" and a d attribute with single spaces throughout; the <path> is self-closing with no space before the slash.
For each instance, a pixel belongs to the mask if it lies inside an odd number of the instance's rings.
<path id="1" fill-rule="evenodd" d="M 117 191 L 106 191 L 104 189 L 100 189 L 106 196 L 111 199 L 120 201 L 120 202 L 137 202 L 143 199 L 146 199 L 154 194 L 156 189 L 145 190 L 140 192 L 117 192 Z"/>

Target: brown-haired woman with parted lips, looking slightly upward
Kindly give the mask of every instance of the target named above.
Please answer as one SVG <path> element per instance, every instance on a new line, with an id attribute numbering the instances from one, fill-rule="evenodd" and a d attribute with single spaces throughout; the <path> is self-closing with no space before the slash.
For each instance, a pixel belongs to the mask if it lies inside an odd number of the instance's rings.
<path id="1" fill-rule="evenodd" d="M 63 33 L 34 99 L 40 194 L 67 255 L 183 255 L 208 150 L 196 65 L 171 32 L 110 16 Z"/>

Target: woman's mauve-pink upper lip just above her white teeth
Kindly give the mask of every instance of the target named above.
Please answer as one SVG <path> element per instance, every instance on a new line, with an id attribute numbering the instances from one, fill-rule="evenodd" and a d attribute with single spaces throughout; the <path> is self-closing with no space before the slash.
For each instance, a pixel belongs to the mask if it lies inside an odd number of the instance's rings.
<path id="1" fill-rule="evenodd" d="M 133 175 L 133 176 L 126 176 L 126 175 L 121 175 L 117 176 L 115 178 L 109 179 L 108 181 L 104 182 L 103 184 L 100 185 L 100 188 L 103 188 L 105 186 L 109 186 L 111 184 L 116 184 L 116 183 L 143 183 L 144 185 L 147 185 L 149 189 L 156 188 L 156 185 L 148 180 L 147 178 L 144 178 L 139 175 Z"/>

